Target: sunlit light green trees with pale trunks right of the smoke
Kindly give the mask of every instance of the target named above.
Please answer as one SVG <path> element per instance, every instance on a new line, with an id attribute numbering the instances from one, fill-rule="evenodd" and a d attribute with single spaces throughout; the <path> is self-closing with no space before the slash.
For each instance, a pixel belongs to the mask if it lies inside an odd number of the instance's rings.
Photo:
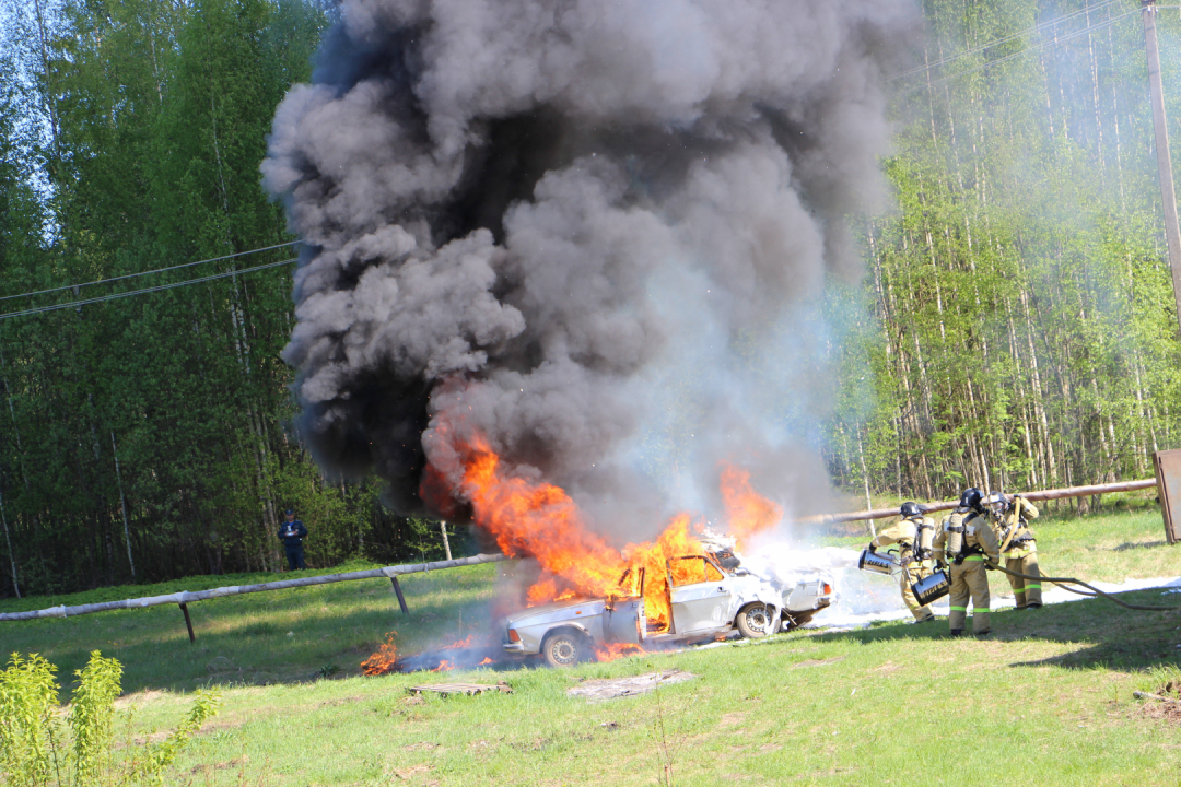
<path id="1" fill-rule="evenodd" d="M 863 221 L 869 275 L 830 303 L 855 315 L 833 473 L 918 499 L 1150 477 L 1181 438 L 1181 354 L 1140 5 L 924 9 L 885 163 L 896 208 Z M 1159 18 L 1176 129 L 1181 24 Z"/>

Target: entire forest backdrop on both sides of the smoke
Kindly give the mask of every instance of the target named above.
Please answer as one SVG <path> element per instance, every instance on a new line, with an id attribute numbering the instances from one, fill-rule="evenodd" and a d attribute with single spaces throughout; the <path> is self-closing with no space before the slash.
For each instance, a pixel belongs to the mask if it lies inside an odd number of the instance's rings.
<path id="1" fill-rule="evenodd" d="M 817 448 L 864 497 L 1148 477 L 1181 441 L 1181 343 L 1140 4 L 922 6 L 925 48 L 889 83 L 895 204 L 854 218 L 867 275 L 824 303 Z M 228 256 L 295 240 L 259 163 L 333 13 L 0 8 L 0 597 L 14 575 L 28 595 L 279 570 L 287 506 L 314 566 L 441 551 L 436 523 L 299 444 L 279 358 L 298 247 Z M 1176 130 L 1176 6 L 1157 25 Z"/>

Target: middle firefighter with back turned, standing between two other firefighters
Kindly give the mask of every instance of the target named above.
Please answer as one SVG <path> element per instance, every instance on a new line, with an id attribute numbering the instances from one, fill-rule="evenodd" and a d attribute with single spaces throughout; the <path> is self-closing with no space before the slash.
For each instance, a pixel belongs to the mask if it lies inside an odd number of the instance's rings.
<path id="1" fill-rule="evenodd" d="M 1000 545 L 984 516 L 980 490 L 965 490 L 959 506 L 945 517 L 935 534 L 934 558 L 939 568 L 951 564 L 951 615 L 947 618 L 952 636 L 964 634 L 967 622 L 967 601 L 972 599 L 972 630 L 977 636 L 988 634 L 988 575 L 985 560 L 997 563 Z"/>

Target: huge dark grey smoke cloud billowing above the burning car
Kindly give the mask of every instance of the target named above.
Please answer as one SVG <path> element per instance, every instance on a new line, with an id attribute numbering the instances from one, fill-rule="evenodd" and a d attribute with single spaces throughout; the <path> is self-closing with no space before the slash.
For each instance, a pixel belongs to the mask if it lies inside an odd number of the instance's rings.
<path id="1" fill-rule="evenodd" d="M 882 74 L 916 19 L 345 0 L 262 165 L 307 242 L 283 358 L 317 460 L 457 517 L 478 432 L 632 539 L 717 507 L 723 459 L 807 511 L 834 340 L 815 299 L 860 275 L 844 217 L 882 196 Z"/>

